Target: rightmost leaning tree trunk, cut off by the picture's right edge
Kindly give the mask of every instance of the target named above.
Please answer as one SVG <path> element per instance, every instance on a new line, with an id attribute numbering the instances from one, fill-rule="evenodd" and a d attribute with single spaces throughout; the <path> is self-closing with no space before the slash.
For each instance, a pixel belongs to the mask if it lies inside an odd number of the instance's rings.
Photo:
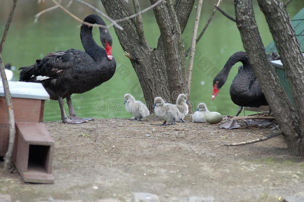
<path id="1" fill-rule="evenodd" d="M 302 155 L 304 155 L 304 59 L 295 30 L 282 0 L 258 0 L 265 14 L 268 26 L 295 97 L 297 113 L 300 118 Z"/>

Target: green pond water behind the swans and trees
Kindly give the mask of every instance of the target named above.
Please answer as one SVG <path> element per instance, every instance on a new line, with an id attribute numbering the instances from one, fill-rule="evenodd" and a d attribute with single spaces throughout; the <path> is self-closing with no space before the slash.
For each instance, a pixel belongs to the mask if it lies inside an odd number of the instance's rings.
<path id="1" fill-rule="evenodd" d="M 9 10 L 11 2 L 10 0 L 2 1 L 4 3 L 0 6 L 0 30 L 4 28 L 8 14 L 7 10 Z M 33 64 L 36 59 L 40 59 L 52 51 L 69 48 L 83 50 L 79 38 L 80 26 L 78 22 L 57 9 L 44 14 L 37 23 L 33 23 L 33 15 L 52 4 L 38 6 L 36 1 L 25 1 L 26 3 L 23 1 L 17 5 L 16 15 L 13 18 L 2 52 L 4 63 L 10 62 L 19 68 Z M 89 2 L 96 6 L 99 5 L 102 9 L 100 1 L 91 0 Z M 205 25 L 215 3 L 215 0 L 204 1 L 200 29 Z M 266 46 L 272 41 L 272 36 L 263 13 L 260 11 L 257 2 L 254 1 L 254 3 L 256 20 Z M 143 6 L 148 6 L 148 4 Z M 302 0 L 292 1 L 288 6 L 290 16 L 293 17 L 303 6 L 304 1 Z M 224 0 L 221 7 L 234 16 L 233 0 Z M 81 8 L 79 4 L 73 5 L 71 10 L 75 11 L 74 13 L 81 18 L 92 13 L 89 9 Z M 188 48 L 191 43 L 194 17 L 195 10 L 192 11 L 183 33 L 185 48 Z M 143 18 L 146 38 L 151 47 L 156 47 L 159 30 L 152 11 L 144 13 Z M 93 32 L 98 44 L 101 44 L 98 40 L 98 30 L 95 29 Z M 111 28 L 110 32 L 113 37 L 112 53 L 117 61 L 117 71 L 112 79 L 102 85 L 89 92 L 72 96 L 76 114 L 80 117 L 129 118 L 131 114 L 125 111 L 123 104 L 124 94 L 131 93 L 136 99 L 144 101 L 139 80 L 131 62 L 124 56 L 124 51 L 120 46 L 114 28 Z M 236 24 L 217 12 L 203 38 L 196 46 L 190 92 L 193 107 L 202 101 L 207 104 L 210 111 L 218 111 L 224 115 L 234 115 L 236 113 L 238 106 L 230 99 L 229 87 L 237 73 L 238 66 L 241 64 L 237 63 L 232 68 L 226 84 L 213 101 L 211 100 L 212 80 L 222 69 L 230 55 L 241 50 L 244 50 L 244 48 Z M 18 71 L 15 70 L 14 80 L 17 79 Z M 45 102 L 44 120 L 60 120 L 57 101 L 47 100 Z"/>

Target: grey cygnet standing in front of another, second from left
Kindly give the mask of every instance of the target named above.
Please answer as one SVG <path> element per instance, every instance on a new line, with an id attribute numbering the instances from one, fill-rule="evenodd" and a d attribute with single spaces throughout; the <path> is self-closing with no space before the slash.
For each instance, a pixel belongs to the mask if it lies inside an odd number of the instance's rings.
<path id="1" fill-rule="evenodd" d="M 160 116 L 164 119 L 161 126 L 165 126 L 166 122 L 173 122 L 169 125 L 175 125 L 175 121 L 181 119 L 181 113 L 176 105 L 164 103 L 164 100 L 161 97 L 155 97 L 153 108 L 156 116 Z"/>

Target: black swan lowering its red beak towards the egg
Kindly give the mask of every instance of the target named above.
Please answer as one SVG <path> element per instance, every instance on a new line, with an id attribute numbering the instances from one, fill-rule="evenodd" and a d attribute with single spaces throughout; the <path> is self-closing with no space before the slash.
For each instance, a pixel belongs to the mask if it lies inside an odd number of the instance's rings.
<path id="1" fill-rule="evenodd" d="M 219 90 L 225 84 L 232 66 L 242 62 L 239 67 L 238 74 L 232 81 L 230 86 L 231 100 L 241 107 L 260 107 L 268 105 L 268 102 L 259 85 L 259 81 L 255 77 L 252 66 L 249 63 L 246 52 L 236 52 L 228 59 L 223 69 L 213 80 L 213 94 L 211 99 L 215 99 Z"/>

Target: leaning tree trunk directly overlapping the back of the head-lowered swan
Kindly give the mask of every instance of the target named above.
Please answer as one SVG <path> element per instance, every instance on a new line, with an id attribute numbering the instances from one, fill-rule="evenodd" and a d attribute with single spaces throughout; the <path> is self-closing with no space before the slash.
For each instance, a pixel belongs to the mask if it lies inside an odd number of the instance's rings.
<path id="1" fill-rule="evenodd" d="M 240 30 L 244 48 L 247 51 L 249 61 L 253 66 L 262 91 L 279 122 L 280 128 L 284 132 L 288 149 L 294 155 L 304 155 L 300 116 L 292 107 L 265 53 L 265 48 L 255 21 L 252 0 L 235 0 L 234 2 L 237 26 Z M 280 14 L 282 12 L 280 11 Z M 289 42 L 284 41 L 284 43 Z M 294 76 L 297 76 L 296 74 L 301 76 L 300 72 L 296 72 L 296 70 L 294 74 Z"/>

